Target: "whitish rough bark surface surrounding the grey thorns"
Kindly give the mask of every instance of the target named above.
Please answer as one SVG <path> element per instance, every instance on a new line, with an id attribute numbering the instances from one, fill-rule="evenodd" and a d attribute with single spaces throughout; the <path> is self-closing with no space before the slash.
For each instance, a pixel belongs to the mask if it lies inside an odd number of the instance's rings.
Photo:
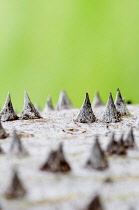
<path id="1" fill-rule="evenodd" d="M 0 140 L 0 146 L 5 152 L 0 155 L 2 209 L 78 210 L 88 207 L 96 193 L 101 196 L 101 203 L 106 210 L 138 207 L 139 151 L 128 148 L 126 156 L 107 155 L 112 133 L 115 133 L 115 141 L 119 142 L 122 134 L 126 141 L 131 127 L 134 141 L 137 147 L 139 146 L 139 131 L 135 127 L 139 105 L 127 107 L 131 116 L 123 117 L 122 121 L 117 123 L 109 123 L 109 132 L 106 130 L 106 123 L 101 121 L 105 107 L 95 108 L 94 115 L 98 121 L 89 124 L 73 121 L 78 109 L 49 112 L 44 119 L 3 122 L 2 126 L 9 136 Z M 13 129 L 17 130 L 29 156 L 18 158 L 9 155 Z M 96 136 L 109 163 L 109 167 L 103 171 L 84 167 Z M 63 143 L 64 155 L 72 170 L 64 174 L 41 171 L 40 166 L 48 159 L 51 150 L 57 150 L 59 143 Z M 4 193 L 11 183 L 13 167 L 18 169 L 27 194 L 20 201 L 16 198 L 9 202 Z M 108 177 L 113 182 L 105 182 Z"/>

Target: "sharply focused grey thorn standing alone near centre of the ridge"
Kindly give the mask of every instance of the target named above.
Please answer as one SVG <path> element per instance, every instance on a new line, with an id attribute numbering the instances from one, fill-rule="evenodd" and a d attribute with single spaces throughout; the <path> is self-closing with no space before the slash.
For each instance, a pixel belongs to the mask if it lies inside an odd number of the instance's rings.
<path id="1" fill-rule="evenodd" d="M 74 121 L 79 123 L 96 122 L 96 117 L 93 113 L 88 93 L 86 93 L 84 103 Z"/>

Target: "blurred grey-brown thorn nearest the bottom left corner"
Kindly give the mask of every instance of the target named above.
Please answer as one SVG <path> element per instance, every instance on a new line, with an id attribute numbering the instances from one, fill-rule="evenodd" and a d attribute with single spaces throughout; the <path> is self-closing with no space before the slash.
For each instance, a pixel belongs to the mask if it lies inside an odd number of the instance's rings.
<path id="1" fill-rule="evenodd" d="M 26 190 L 18 176 L 17 171 L 14 169 L 11 183 L 5 192 L 5 197 L 7 199 L 18 199 L 23 198 L 25 195 Z"/>

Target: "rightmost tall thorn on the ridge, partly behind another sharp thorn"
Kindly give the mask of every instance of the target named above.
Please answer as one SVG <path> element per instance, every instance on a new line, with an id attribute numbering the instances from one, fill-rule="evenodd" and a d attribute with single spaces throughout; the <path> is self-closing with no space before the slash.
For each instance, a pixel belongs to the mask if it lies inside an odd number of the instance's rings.
<path id="1" fill-rule="evenodd" d="M 120 89 L 117 89 L 116 99 L 115 99 L 115 107 L 121 116 L 130 115 L 130 112 L 127 109 L 124 99 L 121 96 Z"/>

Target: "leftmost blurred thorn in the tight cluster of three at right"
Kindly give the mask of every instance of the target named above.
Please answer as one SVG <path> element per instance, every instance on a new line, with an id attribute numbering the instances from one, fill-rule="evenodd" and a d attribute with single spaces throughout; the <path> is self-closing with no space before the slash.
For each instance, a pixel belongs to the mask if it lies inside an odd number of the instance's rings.
<path id="1" fill-rule="evenodd" d="M 117 145 L 118 145 L 118 143 L 117 143 L 117 141 L 115 140 L 115 134 L 112 133 L 111 138 L 110 138 L 110 141 L 109 141 L 109 143 L 108 143 L 108 145 L 107 145 L 107 150 L 106 150 L 107 153 L 108 153 L 109 155 L 115 154 L 116 151 L 117 151 Z"/>

